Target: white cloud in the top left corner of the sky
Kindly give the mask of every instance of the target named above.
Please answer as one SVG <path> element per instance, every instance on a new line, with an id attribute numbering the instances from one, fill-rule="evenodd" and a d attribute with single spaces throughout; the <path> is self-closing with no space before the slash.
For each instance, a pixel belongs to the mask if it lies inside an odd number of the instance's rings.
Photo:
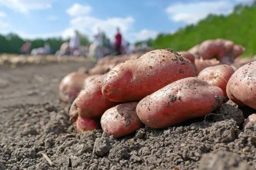
<path id="1" fill-rule="evenodd" d="M 55 0 L 0 0 L 0 6 L 5 6 L 12 10 L 27 13 L 30 10 L 42 10 L 52 7 Z"/>

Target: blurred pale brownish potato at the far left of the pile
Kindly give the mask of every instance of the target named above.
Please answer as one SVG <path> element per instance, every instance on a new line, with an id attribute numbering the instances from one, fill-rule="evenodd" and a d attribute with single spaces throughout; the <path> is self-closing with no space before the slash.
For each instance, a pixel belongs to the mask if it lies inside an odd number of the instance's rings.
<path id="1" fill-rule="evenodd" d="M 84 79 L 87 74 L 81 74 L 78 72 L 71 72 L 66 75 L 59 85 L 59 98 L 63 102 L 72 103 L 77 94 L 84 86 Z"/>

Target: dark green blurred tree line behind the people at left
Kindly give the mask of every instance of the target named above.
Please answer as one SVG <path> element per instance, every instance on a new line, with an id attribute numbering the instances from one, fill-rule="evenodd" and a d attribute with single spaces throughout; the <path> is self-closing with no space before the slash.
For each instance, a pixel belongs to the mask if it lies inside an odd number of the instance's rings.
<path id="1" fill-rule="evenodd" d="M 81 45 L 88 45 L 89 39 L 86 35 L 78 32 Z M 44 47 L 44 43 L 48 43 L 51 47 L 51 53 L 56 53 L 60 49 L 62 43 L 69 41 L 69 39 L 62 39 L 61 37 L 54 37 L 48 39 L 22 39 L 15 33 L 9 33 L 8 35 L 0 35 L 0 53 L 12 53 L 19 54 L 22 45 L 25 42 L 31 42 L 31 49 Z"/>

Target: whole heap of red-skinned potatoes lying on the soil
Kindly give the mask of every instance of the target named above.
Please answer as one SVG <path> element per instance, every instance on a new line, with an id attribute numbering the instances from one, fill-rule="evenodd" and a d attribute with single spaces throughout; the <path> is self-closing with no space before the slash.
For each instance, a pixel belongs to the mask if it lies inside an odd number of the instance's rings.
<path id="1" fill-rule="evenodd" d="M 237 45 L 217 40 L 238 57 L 234 52 Z M 78 132 L 101 127 L 114 137 L 144 125 L 156 129 L 178 125 L 207 115 L 228 99 L 256 109 L 256 61 L 234 70 L 234 61 L 223 62 L 231 55 L 219 54 L 223 49 L 214 55 L 206 53 L 202 47 L 207 45 L 201 45 L 196 53 L 203 55 L 200 59 L 190 52 L 170 49 L 103 58 L 91 70 L 80 68 L 64 77 L 60 99 L 72 103 L 70 120 Z M 255 120 L 256 115 L 251 115 L 243 127 Z"/>

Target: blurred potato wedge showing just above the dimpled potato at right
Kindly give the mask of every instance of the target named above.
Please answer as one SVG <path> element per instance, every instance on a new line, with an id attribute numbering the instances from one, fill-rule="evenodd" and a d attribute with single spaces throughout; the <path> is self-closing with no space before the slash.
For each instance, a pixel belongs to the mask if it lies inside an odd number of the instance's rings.
<path id="1" fill-rule="evenodd" d="M 200 59 L 195 59 L 195 65 L 196 65 L 196 75 L 200 73 L 204 68 L 210 67 L 210 66 L 216 66 L 219 65 L 220 61 L 217 59 L 210 59 L 210 60 L 203 60 L 202 58 Z"/>

